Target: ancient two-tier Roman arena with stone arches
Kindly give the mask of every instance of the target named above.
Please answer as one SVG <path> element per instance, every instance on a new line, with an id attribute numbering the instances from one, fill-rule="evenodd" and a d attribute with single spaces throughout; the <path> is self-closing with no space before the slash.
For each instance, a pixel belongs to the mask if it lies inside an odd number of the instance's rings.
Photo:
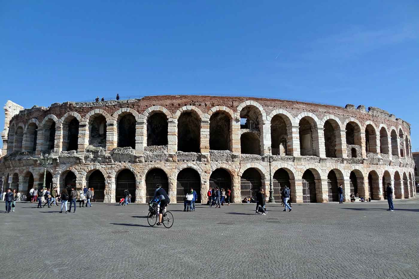
<path id="1" fill-rule="evenodd" d="M 337 201 L 351 193 L 396 199 L 414 191 L 410 124 L 375 107 L 331 106 L 269 98 L 147 96 L 124 101 L 54 103 L 23 109 L 8 101 L 0 174 L 5 187 L 95 188 L 115 202 L 129 189 L 145 203 L 162 184 L 183 203 L 190 188 L 206 202 L 210 187 L 232 202 L 259 187 L 276 202 Z M 46 172 L 42 166 L 50 160 Z M 11 183 L 9 182 L 11 178 Z"/>

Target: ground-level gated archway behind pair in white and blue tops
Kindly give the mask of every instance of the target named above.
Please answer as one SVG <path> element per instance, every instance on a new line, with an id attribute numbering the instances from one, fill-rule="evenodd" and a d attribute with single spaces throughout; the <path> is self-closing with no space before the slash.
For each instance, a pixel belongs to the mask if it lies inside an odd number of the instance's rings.
<path id="1" fill-rule="evenodd" d="M 178 173 L 176 183 L 176 202 L 183 203 L 186 193 L 191 189 L 197 192 L 198 199 L 195 203 L 201 202 L 201 177 L 193 168 L 184 168 Z"/>

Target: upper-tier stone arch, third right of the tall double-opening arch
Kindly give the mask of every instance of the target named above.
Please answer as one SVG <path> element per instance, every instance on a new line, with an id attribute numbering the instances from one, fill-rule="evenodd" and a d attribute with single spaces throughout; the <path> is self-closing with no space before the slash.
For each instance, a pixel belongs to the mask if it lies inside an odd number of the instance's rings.
<path id="1" fill-rule="evenodd" d="M 325 144 L 326 157 L 343 157 L 343 140 L 341 137 L 342 124 L 336 116 L 327 114 L 321 120 Z"/>

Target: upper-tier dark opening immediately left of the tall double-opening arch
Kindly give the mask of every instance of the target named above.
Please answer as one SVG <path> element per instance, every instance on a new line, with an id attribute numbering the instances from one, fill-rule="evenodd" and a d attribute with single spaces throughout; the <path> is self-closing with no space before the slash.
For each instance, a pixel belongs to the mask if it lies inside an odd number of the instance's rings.
<path id="1" fill-rule="evenodd" d="M 209 119 L 209 149 L 230 150 L 230 116 L 216 112 Z"/>

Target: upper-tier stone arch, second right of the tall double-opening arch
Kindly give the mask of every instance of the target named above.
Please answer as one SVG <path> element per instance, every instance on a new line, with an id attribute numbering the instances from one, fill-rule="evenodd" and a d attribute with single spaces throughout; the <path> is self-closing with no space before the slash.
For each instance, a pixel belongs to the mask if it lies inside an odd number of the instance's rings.
<path id="1" fill-rule="evenodd" d="M 319 145 L 320 121 L 315 114 L 303 112 L 295 117 L 299 126 L 300 154 L 301 156 L 320 156 L 323 147 Z M 323 129 L 323 128 L 322 128 Z M 324 155 L 323 155 L 324 156 Z"/>

